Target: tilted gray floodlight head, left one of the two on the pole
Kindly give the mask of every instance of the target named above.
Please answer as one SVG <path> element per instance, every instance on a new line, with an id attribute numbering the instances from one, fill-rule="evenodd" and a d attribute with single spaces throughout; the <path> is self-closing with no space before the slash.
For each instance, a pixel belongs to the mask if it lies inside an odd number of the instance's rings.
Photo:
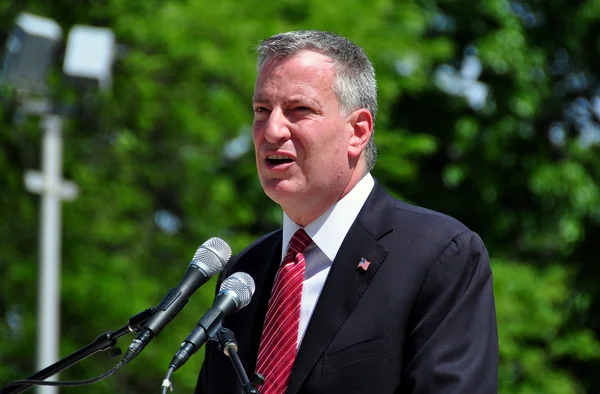
<path id="1" fill-rule="evenodd" d="M 21 13 L 6 40 L 0 84 L 43 93 L 46 74 L 62 40 L 62 29 L 52 19 Z"/>

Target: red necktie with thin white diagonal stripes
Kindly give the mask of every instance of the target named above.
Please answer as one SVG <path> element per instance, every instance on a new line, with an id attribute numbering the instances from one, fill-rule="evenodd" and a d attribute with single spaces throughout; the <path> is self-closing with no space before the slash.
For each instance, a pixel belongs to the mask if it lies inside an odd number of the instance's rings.
<path id="1" fill-rule="evenodd" d="M 306 270 L 302 252 L 311 242 L 304 229 L 296 231 L 275 278 L 256 364 L 256 370 L 265 377 L 261 394 L 283 394 L 287 388 L 298 345 Z"/>

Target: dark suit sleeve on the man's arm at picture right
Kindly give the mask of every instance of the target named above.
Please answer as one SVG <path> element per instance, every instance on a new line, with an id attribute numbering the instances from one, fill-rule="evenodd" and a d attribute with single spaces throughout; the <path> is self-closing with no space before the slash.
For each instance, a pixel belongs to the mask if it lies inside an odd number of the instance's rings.
<path id="1" fill-rule="evenodd" d="M 398 392 L 498 392 L 492 272 L 477 234 L 457 235 L 432 264 L 411 312 L 409 330 Z"/>

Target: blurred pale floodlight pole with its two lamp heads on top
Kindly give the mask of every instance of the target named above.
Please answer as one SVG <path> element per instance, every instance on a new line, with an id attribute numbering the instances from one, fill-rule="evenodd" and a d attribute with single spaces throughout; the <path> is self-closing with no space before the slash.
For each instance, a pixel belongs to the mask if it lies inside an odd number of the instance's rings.
<path id="1" fill-rule="evenodd" d="M 62 29 L 55 21 L 27 13 L 19 14 L 6 41 L 4 56 L 0 59 L 0 85 L 11 85 L 17 89 L 19 99 L 23 101 L 20 111 L 40 115 L 44 131 L 42 171 L 28 171 L 25 175 L 27 189 L 42 195 L 37 332 L 37 366 L 40 370 L 58 359 L 60 202 L 74 199 L 78 192 L 73 182 L 62 178 L 65 114 L 51 102 L 46 85 L 47 72 L 55 60 L 62 37 Z M 65 76 L 96 88 L 110 86 L 110 70 L 116 52 L 112 31 L 77 25 L 71 29 L 67 41 L 62 70 Z M 56 394 L 57 388 L 43 387 L 38 393 Z"/>

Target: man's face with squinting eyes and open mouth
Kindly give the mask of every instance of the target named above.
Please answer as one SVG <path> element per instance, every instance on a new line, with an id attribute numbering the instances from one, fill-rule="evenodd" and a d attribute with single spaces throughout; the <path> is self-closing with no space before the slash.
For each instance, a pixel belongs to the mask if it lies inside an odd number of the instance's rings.
<path id="1" fill-rule="evenodd" d="M 320 215 L 345 192 L 352 126 L 333 91 L 334 65 L 303 51 L 267 62 L 254 90 L 252 137 L 265 193 L 293 215 Z M 310 218 L 312 221 L 317 216 Z"/>

